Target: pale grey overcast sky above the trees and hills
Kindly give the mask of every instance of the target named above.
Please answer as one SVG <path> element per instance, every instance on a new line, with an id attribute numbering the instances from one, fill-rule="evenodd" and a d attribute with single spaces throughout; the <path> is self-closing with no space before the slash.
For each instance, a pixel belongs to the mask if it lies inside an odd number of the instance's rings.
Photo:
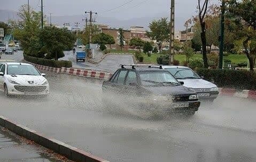
<path id="1" fill-rule="evenodd" d="M 12 11 L 18 11 L 19 6 L 27 3 L 27 0 L 1 1 L 0 9 Z M 216 1 L 218 0 L 210 2 L 213 4 Z M 29 0 L 29 4 L 35 10 L 40 10 L 41 0 Z M 100 17 L 128 20 L 157 15 L 169 17 L 170 0 L 43 0 L 43 6 L 44 13 L 52 13 L 52 16 L 81 15 L 84 11 L 91 10 L 98 12 Z M 115 9 L 116 7 L 118 8 Z M 175 0 L 175 17 L 178 19 L 185 21 L 191 18 L 196 14 L 196 9 L 197 0 Z"/>

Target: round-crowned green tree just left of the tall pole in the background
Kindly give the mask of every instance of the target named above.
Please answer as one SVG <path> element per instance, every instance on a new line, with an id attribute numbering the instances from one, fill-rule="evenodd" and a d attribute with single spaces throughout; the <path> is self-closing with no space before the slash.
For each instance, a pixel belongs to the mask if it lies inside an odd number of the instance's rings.
<path id="1" fill-rule="evenodd" d="M 169 39 L 170 25 L 167 18 L 153 20 L 149 24 L 149 28 L 150 31 L 147 31 L 146 35 L 153 40 L 157 40 L 159 51 L 161 52 L 162 42 Z"/>

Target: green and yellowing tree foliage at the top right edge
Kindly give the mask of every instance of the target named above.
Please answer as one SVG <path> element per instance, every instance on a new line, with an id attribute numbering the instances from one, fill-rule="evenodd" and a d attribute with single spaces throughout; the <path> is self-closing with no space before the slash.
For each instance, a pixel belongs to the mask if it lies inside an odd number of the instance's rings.
<path id="1" fill-rule="evenodd" d="M 229 29 L 236 33 L 235 39 L 241 41 L 243 52 L 250 62 L 250 70 L 253 71 L 256 59 L 256 47 L 254 46 L 256 42 L 256 1 L 230 0 L 227 3 L 227 17 L 231 20 Z"/>

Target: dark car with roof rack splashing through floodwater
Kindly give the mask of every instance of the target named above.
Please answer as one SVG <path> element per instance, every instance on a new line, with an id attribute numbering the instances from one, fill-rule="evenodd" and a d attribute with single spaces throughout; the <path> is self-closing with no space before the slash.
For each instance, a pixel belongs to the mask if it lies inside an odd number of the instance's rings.
<path id="1" fill-rule="evenodd" d="M 197 92 L 182 86 L 183 83 L 162 66 L 152 66 L 122 64 L 122 68 L 103 82 L 105 105 L 113 108 L 131 107 L 131 111 L 137 109 L 147 115 L 158 112 L 165 115 L 169 112 L 182 112 L 186 116 L 195 114 L 200 106 Z"/>

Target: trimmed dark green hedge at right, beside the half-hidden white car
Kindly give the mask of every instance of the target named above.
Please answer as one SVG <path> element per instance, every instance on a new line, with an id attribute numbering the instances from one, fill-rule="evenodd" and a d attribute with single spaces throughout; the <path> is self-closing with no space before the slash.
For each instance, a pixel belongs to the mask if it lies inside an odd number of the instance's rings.
<path id="1" fill-rule="evenodd" d="M 247 70 L 231 69 L 197 69 L 200 76 L 218 87 L 235 88 L 238 90 L 256 90 L 256 73 Z"/>

